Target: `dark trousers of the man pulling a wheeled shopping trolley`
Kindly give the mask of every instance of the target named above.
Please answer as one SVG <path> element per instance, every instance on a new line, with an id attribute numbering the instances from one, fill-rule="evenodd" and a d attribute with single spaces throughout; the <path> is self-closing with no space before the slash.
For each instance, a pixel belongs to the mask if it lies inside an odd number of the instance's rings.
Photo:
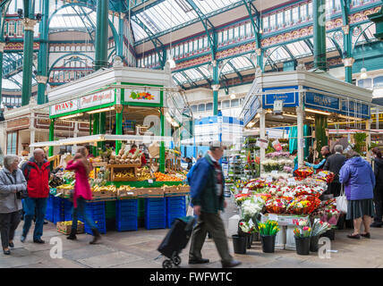
<path id="1" fill-rule="evenodd" d="M 189 259 L 200 259 L 202 255 L 200 250 L 206 240 L 206 235 L 211 233 L 218 254 L 223 263 L 228 263 L 233 260 L 230 256 L 229 247 L 227 244 L 225 225 L 219 214 L 200 213 L 197 224 L 195 225 L 191 235 L 191 248 Z"/>

